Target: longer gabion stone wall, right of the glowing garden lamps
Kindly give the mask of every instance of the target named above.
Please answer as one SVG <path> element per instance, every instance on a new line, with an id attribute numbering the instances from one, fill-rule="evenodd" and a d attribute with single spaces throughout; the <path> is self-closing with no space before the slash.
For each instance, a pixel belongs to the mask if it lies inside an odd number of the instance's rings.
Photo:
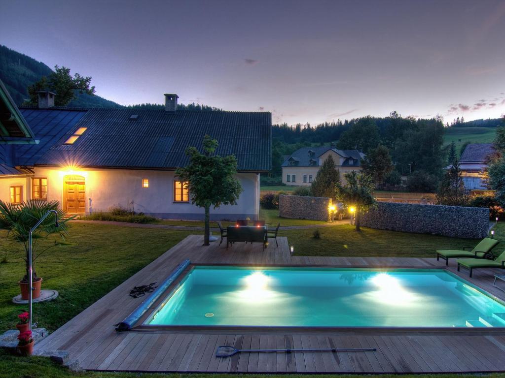
<path id="1" fill-rule="evenodd" d="M 488 234 L 489 209 L 379 202 L 361 218 L 364 227 L 381 230 L 481 238 Z"/>

